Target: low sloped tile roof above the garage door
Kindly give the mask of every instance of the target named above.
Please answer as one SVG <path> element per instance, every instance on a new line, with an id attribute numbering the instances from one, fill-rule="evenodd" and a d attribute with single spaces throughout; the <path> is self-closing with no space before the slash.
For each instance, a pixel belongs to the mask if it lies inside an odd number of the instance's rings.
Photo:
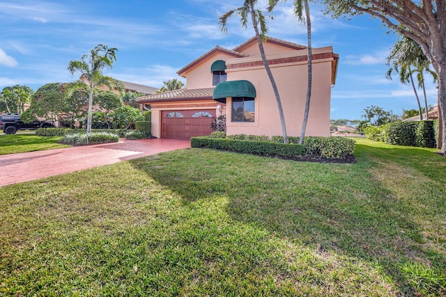
<path id="1" fill-rule="evenodd" d="M 163 102 L 163 101 L 176 101 L 187 99 L 212 99 L 214 88 L 199 88 L 199 89 L 187 89 L 182 88 L 179 90 L 170 90 L 167 92 L 156 93 L 153 95 L 146 95 L 137 97 L 138 103 L 150 103 L 150 102 Z"/>

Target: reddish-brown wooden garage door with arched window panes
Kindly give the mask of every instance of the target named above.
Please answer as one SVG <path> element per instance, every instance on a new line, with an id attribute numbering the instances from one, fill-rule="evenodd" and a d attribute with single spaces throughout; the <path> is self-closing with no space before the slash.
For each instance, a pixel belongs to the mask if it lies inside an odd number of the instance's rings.
<path id="1" fill-rule="evenodd" d="M 190 139 L 212 133 L 210 121 L 215 109 L 162 111 L 161 138 Z"/>

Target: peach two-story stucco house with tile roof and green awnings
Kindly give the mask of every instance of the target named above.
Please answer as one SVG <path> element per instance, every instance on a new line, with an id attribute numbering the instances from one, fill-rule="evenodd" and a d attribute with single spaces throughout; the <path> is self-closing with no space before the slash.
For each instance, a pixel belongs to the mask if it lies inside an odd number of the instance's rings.
<path id="1" fill-rule="evenodd" d="M 307 47 L 268 38 L 263 42 L 277 83 L 289 136 L 300 135 L 307 96 Z M 339 55 L 313 48 L 312 101 L 307 136 L 330 136 L 331 88 Z M 187 139 L 212 132 L 214 115 L 226 115 L 226 134 L 282 135 L 277 102 L 256 38 L 235 49 L 216 46 L 179 70 L 186 87 L 139 97 L 151 104 L 152 134 Z"/>

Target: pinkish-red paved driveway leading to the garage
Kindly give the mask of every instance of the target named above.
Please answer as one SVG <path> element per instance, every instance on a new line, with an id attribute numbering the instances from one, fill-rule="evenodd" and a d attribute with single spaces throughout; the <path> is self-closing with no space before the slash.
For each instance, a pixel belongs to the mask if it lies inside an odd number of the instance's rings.
<path id="1" fill-rule="evenodd" d="M 0 155 L 0 186 L 190 147 L 190 141 L 143 139 Z"/>

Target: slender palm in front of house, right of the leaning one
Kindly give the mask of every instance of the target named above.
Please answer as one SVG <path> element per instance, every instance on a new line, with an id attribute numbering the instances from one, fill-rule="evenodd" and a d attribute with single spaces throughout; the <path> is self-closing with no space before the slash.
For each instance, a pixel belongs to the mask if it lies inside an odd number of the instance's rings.
<path id="1" fill-rule="evenodd" d="M 268 11 L 271 12 L 279 1 L 286 2 L 286 0 L 270 0 Z M 305 10 L 305 19 L 303 11 Z M 312 98 L 312 20 L 309 15 L 308 0 L 294 0 L 294 14 L 301 22 L 307 21 L 307 48 L 308 48 L 308 82 L 307 82 L 307 99 L 305 100 L 304 119 L 302 122 L 302 129 L 300 130 L 299 144 L 301 145 L 305 138 L 305 130 L 307 129 L 309 104 Z"/>

